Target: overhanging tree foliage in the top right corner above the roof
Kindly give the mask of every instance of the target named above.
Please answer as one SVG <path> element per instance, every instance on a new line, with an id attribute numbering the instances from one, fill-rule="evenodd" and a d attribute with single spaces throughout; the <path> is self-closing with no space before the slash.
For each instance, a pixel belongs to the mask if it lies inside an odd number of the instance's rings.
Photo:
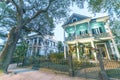
<path id="1" fill-rule="evenodd" d="M 93 12 L 108 12 L 111 16 L 120 17 L 120 0 L 89 0 L 89 9 Z"/>

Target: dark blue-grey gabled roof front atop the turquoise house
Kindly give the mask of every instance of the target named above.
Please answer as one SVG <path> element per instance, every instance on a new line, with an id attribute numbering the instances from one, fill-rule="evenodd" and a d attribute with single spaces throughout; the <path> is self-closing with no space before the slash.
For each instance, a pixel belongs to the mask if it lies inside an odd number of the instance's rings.
<path id="1" fill-rule="evenodd" d="M 72 22 L 73 18 L 77 18 L 77 21 L 81 21 L 81 20 L 84 20 L 84 19 L 87 19 L 87 18 L 90 18 L 90 17 L 73 13 L 63 25 L 67 25 L 67 24 L 73 23 Z"/>

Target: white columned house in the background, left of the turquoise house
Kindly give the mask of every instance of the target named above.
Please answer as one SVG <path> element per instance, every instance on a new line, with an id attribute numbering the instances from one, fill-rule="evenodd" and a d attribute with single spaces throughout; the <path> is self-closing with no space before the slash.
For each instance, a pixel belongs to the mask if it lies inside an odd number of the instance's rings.
<path id="1" fill-rule="evenodd" d="M 32 35 L 27 38 L 28 50 L 27 56 L 31 55 L 44 55 L 49 53 L 58 52 L 57 41 L 53 39 L 53 36 Z"/>

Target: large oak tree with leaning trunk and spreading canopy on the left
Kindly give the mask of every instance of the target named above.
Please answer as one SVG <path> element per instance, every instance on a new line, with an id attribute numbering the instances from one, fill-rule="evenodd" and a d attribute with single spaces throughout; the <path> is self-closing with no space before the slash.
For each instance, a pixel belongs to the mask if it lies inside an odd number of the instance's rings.
<path id="1" fill-rule="evenodd" d="M 0 63 L 7 72 L 16 44 L 23 33 L 52 34 L 54 21 L 60 22 L 69 13 L 72 2 L 83 0 L 1 0 L 0 27 L 8 32 L 7 42 L 0 55 Z"/>

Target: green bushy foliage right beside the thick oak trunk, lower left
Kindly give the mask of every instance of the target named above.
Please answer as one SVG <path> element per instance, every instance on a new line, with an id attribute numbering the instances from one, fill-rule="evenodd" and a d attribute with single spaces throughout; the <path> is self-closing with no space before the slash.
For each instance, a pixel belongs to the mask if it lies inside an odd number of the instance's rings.
<path id="1" fill-rule="evenodd" d="M 28 45 L 25 41 L 18 44 L 15 53 L 13 54 L 13 62 L 23 63 L 26 58 L 27 49 Z"/>

